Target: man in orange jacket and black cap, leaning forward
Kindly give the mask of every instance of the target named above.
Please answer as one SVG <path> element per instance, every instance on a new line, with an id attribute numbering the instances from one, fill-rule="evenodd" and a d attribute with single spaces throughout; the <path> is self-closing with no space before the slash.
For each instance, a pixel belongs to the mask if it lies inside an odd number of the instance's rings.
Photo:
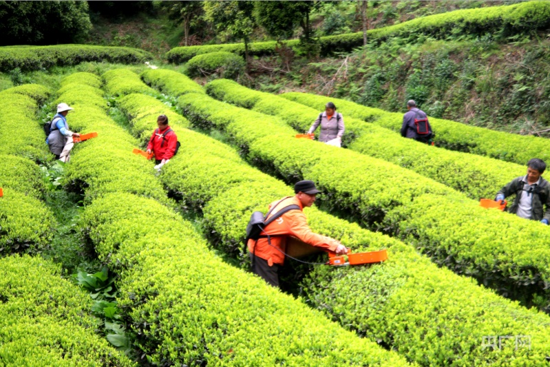
<path id="1" fill-rule="evenodd" d="M 279 267 L 284 264 L 286 242 L 289 235 L 306 244 L 333 251 L 338 255 L 348 252 L 348 249 L 339 241 L 313 233 L 308 226 L 306 216 L 302 210 L 304 207 L 311 207 L 315 202 L 317 193 L 320 192 L 315 187 L 315 183 L 313 181 L 299 181 L 294 186 L 294 192 L 295 196 L 272 202 L 269 209 L 273 215 L 289 205 L 297 205 L 299 209 L 293 209 L 282 214 L 280 218 L 273 220 L 264 228 L 262 234 L 265 234 L 265 236 L 261 236 L 258 240 L 250 239 L 247 243 L 253 273 L 260 275 L 268 284 L 276 287 L 279 286 L 278 271 Z M 271 218 L 271 215 L 266 219 L 269 218 Z M 266 238 L 266 235 L 270 235 L 269 238 Z"/>

